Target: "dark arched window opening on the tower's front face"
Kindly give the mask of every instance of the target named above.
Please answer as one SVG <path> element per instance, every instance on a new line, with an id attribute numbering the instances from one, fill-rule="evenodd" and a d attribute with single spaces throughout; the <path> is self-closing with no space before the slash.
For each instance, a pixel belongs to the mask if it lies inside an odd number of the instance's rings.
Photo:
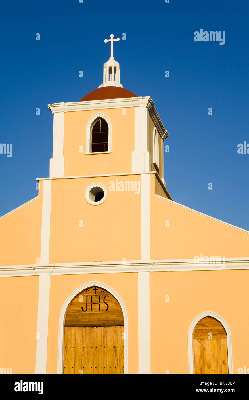
<path id="1" fill-rule="evenodd" d="M 106 152 L 108 151 L 108 124 L 103 118 L 98 118 L 91 132 L 91 152 Z"/>

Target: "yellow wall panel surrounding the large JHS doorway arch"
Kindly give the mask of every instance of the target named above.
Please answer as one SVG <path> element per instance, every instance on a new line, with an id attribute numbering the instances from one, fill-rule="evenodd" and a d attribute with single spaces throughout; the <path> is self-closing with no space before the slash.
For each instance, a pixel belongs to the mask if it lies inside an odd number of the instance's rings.
<path id="1" fill-rule="evenodd" d="M 137 273 L 54 275 L 50 282 L 47 373 L 56 374 L 58 326 L 62 306 L 78 287 L 97 281 L 109 286 L 122 298 L 128 315 L 128 372 L 138 371 Z M 90 284 L 91 286 L 91 284 Z M 80 292 L 80 291 L 79 291 Z"/>

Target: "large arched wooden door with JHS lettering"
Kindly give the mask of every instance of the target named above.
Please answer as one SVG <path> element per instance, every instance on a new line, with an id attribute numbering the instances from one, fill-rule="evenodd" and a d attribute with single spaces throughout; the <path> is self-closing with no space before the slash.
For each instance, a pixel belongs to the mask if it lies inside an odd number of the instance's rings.
<path id="1" fill-rule="evenodd" d="M 97 286 L 70 303 L 64 325 L 64 374 L 124 374 L 124 316 Z"/>

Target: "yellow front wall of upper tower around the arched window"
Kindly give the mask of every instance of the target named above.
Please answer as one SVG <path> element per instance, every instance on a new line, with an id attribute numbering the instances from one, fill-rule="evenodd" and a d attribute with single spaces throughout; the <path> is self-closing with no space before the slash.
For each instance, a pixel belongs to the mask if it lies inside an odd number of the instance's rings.
<path id="1" fill-rule="evenodd" d="M 86 126 L 96 113 L 107 116 L 112 124 L 112 153 L 86 155 Z M 83 146 L 83 152 L 79 152 Z M 131 172 L 134 150 L 134 107 L 110 110 L 84 110 L 64 113 L 64 176 L 82 176 Z"/>

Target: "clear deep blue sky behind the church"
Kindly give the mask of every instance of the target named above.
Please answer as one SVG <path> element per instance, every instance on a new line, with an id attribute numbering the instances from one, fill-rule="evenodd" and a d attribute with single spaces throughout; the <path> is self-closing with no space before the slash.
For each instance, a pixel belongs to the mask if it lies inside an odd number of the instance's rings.
<path id="1" fill-rule="evenodd" d="M 5 2 L 0 143 L 12 143 L 13 155 L 0 154 L 0 215 L 37 196 L 36 178 L 49 176 L 47 105 L 97 88 L 110 56 L 104 39 L 126 33 L 114 44 L 121 83 L 153 99 L 169 132 L 173 200 L 249 230 L 249 154 L 237 153 L 249 143 L 248 12 L 245 1 Z M 225 31 L 225 44 L 194 42 L 201 29 Z"/>

